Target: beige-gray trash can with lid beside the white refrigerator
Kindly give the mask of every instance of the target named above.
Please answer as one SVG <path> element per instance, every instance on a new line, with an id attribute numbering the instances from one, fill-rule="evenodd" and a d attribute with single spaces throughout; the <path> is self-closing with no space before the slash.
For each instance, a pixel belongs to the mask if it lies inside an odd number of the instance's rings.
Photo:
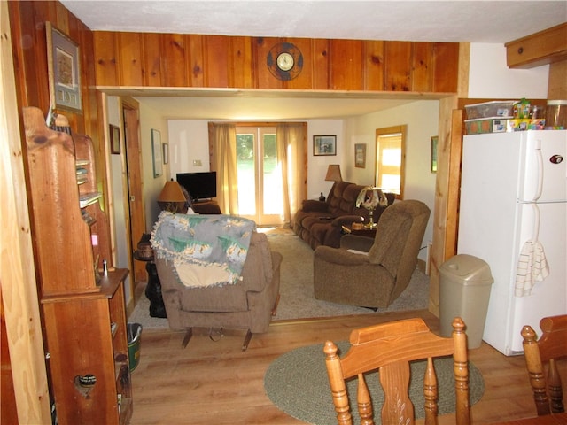
<path id="1" fill-rule="evenodd" d="M 441 336 L 451 336 L 453 319 L 466 325 L 469 348 L 478 348 L 485 331 L 486 312 L 494 279 L 482 259 L 459 254 L 439 268 L 439 321 Z"/>

